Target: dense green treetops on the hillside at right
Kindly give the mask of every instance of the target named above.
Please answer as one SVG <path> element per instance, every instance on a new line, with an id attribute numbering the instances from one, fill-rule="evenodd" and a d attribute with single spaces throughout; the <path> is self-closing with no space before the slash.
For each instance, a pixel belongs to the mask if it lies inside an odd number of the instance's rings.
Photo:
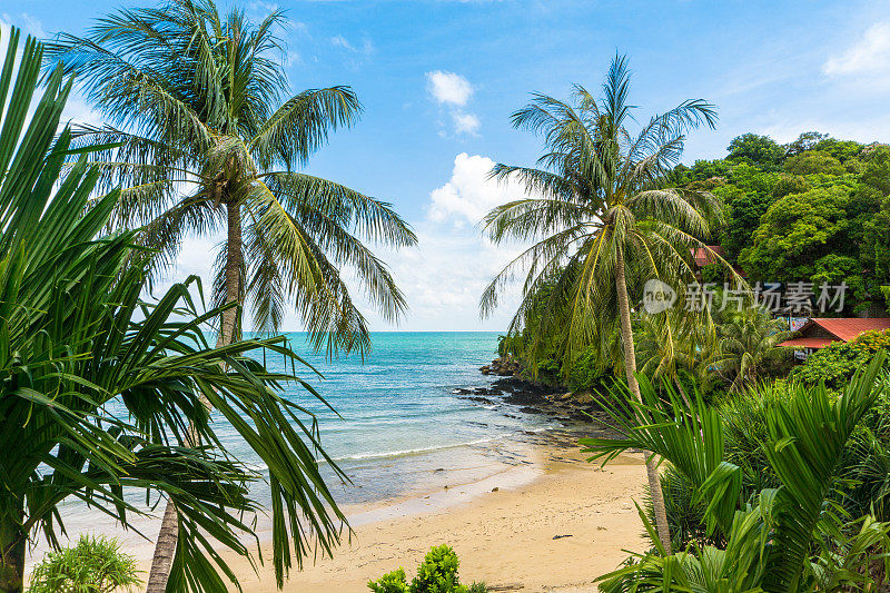
<path id="1" fill-rule="evenodd" d="M 831 315 L 881 314 L 890 148 L 804 132 L 788 145 L 749 134 L 728 150 L 724 159 L 678 166 L 672 180 L 720 198 L 725 219 L 716 236 L 749 283 L 846 283 L 844 306 Z"/>

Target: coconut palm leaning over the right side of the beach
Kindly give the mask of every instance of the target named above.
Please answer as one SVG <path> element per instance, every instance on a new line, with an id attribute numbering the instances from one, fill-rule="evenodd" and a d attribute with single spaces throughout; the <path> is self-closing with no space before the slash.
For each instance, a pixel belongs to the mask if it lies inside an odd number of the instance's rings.
<path id="1" fill-rule="evenodd" d="M 571 357 L 597 339 L 606 344 L 620 322 L 624 369 L 639 397 L 636 355 L 629 293 L 640 295 L 647 278 L 692 277 L 689 248 L 704 247 L 708 219 L 716 211 L 704 192 L 668 188 L 665 176 L 683 150 L 685 132 L 714 126 L 715 107 L 688 100 L 653 117 L 635 136 L 627 129 L 627 60 L 616 56 L 597 100 L 574 87 L 574 106 L 536 93 L 512 116 L 516 128 L 540 135 L 545 154 L 537 168 L 497 165 L 500 180 L 522 182 L 530 195 L 494 208 L 485 230 L 494 243 L 535 243 L 508 264 L 482 296 L 483 314 L 497 305 L 498 294 L 517 271 L 525 271 L 523 300 L 511 330 L 520 330 L 525 309 L 540 284 L 560 271 L 550 305 L 537 317 L 552 326 L 567 310 L 566 350 Z M 670 546 L 664 501 L 656 466 L 646 463 L 659 535 Z"/>

